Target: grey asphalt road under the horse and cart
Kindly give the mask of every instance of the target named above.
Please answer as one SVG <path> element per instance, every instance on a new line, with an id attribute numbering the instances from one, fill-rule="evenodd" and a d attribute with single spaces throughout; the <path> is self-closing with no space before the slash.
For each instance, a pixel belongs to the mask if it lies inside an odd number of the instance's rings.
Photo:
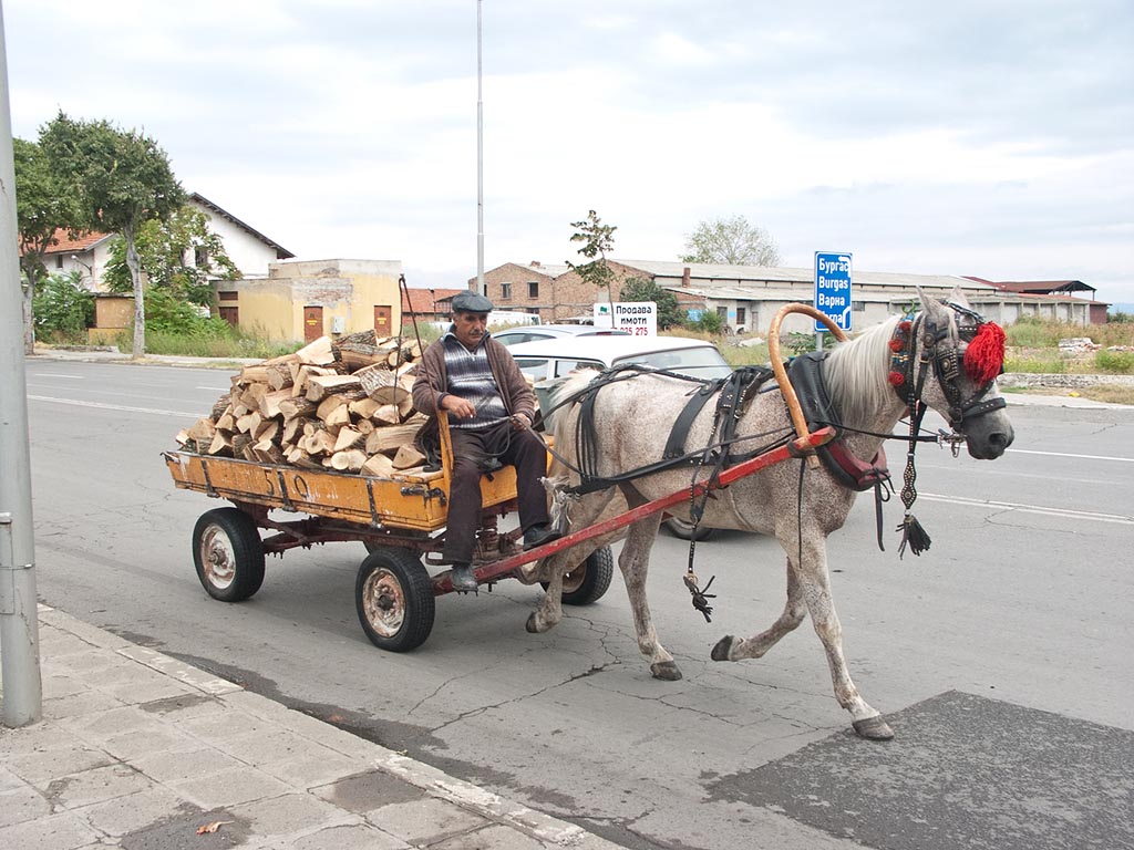
<path id="1" fill-rule="evenodd" d="M 896 499 L 885 553 L 860 500 L 829 551 L 852 674 L 897 733 L 879 745 L 849 733 L 806 623 L 760 661 L 709 660 L 782 606 L 762 537 L 697 545 L 711 624 L 687 545 L 659 538 L 678 682 L 651 679 L 617 577 L 547 635 L 524 631 L 538 587 L 443 596 L 406 655 L 358 626 L 361 544 L 289 552 L 254 598 L 210 600 L 189 533 L 219 503 L 175 490 L 160 452 L 228 374 L 28 364 L 44 602 L 629 848 L 1134 847 L 1134 409 L 1013 406 L 995 462 L 919 449 L 921 558 L 897 555 Z"/>

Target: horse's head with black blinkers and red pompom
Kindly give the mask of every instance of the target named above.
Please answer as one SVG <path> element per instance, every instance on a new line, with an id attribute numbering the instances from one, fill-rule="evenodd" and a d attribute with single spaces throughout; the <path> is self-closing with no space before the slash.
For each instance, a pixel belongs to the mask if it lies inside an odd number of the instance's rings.
<path id="1" fill-rule="evenodd" d="M 945 300 L 919 295 L 922 312 L 899 323 L 891 343 L 891 383 L 911 409 L 920 401 L 941 414 L 972 457 L 999 458 L 1015 436 L 996 384 L 1004 331 L 973 311 L 959 289 Z"/>

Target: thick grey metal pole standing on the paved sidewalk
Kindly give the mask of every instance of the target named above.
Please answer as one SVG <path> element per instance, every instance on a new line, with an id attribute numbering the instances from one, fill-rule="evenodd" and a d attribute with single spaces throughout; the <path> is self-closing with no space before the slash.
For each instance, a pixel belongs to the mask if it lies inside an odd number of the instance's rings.
<path id="1" fill-rule="evenodd" d="M 3 723 L 43 716 L 8 51 L 0 6 L 0 664 Z"/>

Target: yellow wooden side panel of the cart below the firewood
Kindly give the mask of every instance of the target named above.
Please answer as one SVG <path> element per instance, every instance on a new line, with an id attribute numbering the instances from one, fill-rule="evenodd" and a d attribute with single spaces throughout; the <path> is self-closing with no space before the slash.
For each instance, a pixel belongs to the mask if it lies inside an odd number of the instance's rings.
<path id="1" fill-rule="evenodd" d="M 432 498 L 426 495 L 432 483 L 369 478 L 188 452 L 166 452 L 164 457 L 178 487 L 232 501 L 424 532 L 442 528 L 448 516 L 435 493 Z"/>

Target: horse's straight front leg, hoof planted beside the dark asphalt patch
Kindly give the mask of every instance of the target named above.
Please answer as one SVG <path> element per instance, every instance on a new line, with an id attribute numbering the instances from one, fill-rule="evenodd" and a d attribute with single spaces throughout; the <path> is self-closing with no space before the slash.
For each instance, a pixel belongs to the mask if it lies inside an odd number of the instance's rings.
<path id="1" fill-rule="evenodd" d="M 863 738 L 877 741 L 888 741 L 894 737 L 881 712 L 871 707 L 862 698 L 858 689 L 850 680 L 846 658 L 843 655 L 843 624 L 835 612 L 831 600 L 830 576 L 827 571 L 827 546 L 822 535 L 814 535 L 818 542 L 805 542 L 803 561 L 795 564 L 796 577 L 802 588 L 811 622 L 815 634 L 827 652 L 827 664 L 831 670 L 831 681 L 835 685 L 835 698 L 839 705 L 850 712 L 854 731 Z M 792 555 L 788 554 L 790 560 Z"/>

